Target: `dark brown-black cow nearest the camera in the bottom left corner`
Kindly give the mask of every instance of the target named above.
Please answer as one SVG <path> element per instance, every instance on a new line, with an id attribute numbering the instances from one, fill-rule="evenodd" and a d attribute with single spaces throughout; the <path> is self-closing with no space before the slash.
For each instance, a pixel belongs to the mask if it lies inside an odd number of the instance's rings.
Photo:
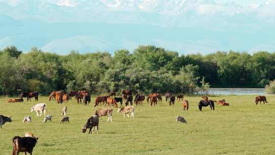
<path id="1" fill-rule="evenodd" d="M 13 143 L 13 155 L 18 155 L 19 152 L 26 152 L 33 154 L 33 149 L 37 143 L 38 138 L 35 137 L 19 137 L 15 136 L 12 139 Z"/>

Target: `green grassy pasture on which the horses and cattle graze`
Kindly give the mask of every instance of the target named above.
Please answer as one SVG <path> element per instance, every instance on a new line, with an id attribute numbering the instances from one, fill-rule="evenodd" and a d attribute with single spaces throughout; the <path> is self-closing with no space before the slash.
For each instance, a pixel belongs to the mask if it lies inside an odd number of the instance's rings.
<path id="1" fill-rule="evenodd" d="M 114 108 L 113 122 L 99 123 L 99 134 L 82 134 L 81 126 L 94 114 L 94 99 L 89 107 L 70 101 L 67 105 L 70 124 L 59 124 L 63 106 L 47 97 L 52 122 L 30 112 L 38 102 L 8 103 L 0 98 L 0 114 L 12 115 L 12 122 L 0 131 L 0 154 L 12 153 L 12 138 L 29 131 L 39 137 L 34 154 L 275 154 L 275 96 L 267 96 L 268 104 L 255 106 L 255 96 L 218 96 L 229 107 L 215 105 L 215 111 L 198 110 L 200 97 L 189 97 L 189 110 L 180 102 L 170 107 L 162 101 L 157 107 L 135 107 L 133 119 L 123 118 Z M 32 116 L 31 123 L 22 123 Z M 43 115 L 42 115 L 43 116 Z M 176 123 L 183 116 L 187 124 Z M 20 153 L 23 154 L 23 153 Z"/>

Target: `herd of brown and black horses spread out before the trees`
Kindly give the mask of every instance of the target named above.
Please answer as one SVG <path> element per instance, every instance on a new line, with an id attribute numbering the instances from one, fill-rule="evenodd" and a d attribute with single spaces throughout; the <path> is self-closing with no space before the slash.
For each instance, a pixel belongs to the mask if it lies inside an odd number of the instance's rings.
<path id="1" fill-rule="evenodd" d="M 133 97 L 133 93 L 135 93 L 135 96 Z M 27 98 L 27 101 L 31 101 L 31 98 L 35 98 L 35 101 L 38 100 L 38 92 L 21 92 L 19 99 L 9 99 L 9 102 L 20 102 L 23 101 L 23 97 Z M 122 91 L 122 97 L 114 97 L 116 96 L 116 92 L 111 92 L 108 95 L 105 96 L 97 96 L 95 99 L 94 107 L 97 106 L 112 106 L 112 107 L 118 107 L 118 102 L 120 102 L 120 106 L 122 107 L 123 100 L 125 100 L 125 105 L 133 105 L 133 102 L 136 106 L 143 106 L 145 95 L 139 94 L 132 90 L 123 90 Z M 147 102 L 150 106 L 157 106 L 157 103 L 159 101 L 162 101 L 160 93 L 151 93 L 147 96 Z M 72 100 L 72 98 L 77 101 L 78 104 L 81 104 L 81 102 L 84 102 L 84 106 L 89 106 L 91 102 L 91 95 L 90 92 L 87 90 L 79 90 L 79 91 L 52 91 L 49 95 L 49 101 L 55 100 L 58 104 L 62 104 L 63 102 L 68 102 L 69 100 Z M 171 91 L 168 91 L 164 94 L 165 100 L 169 102 L 169 105 L 175 104 L 175 100 L 182 101 L 182 107 L 184 110 L 188 110 L 189 103 L 188 100 L 183 99 L 183 95 L 172 95 Z M 210 110 L 215 110 L 214 102 L 217 102 L 220 106 L 229 106 L 229 104 L 225 101 L 225 99 L 222 100 L 210 100 L 207 96 L 203 96 L 203 99 L 199 101 L 198 107 L 199 110 L 202 111 L 203 107 L 210 107 Z M 258 105 L 262 103 L 265 104 L 266 97 L 265 96 L 257 96 L 255 98 L 255 104 Z"/>

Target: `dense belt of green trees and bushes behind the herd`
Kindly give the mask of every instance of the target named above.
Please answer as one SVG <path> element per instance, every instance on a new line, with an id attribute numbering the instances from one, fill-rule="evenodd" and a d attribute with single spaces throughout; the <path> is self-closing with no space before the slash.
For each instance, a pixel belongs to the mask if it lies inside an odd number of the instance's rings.
<path id="1" fill-rule="evenodd" d="M 275 54 L 258 51 L 216 51 L 179 55 L 153 45 L 132 51 L 68 55 L 44 52 L 36 47 L 22 53 L 15 46 L 0 50 L 0 94 L 20 91 L 86 89 L 108 93 L 123 89 L 139 92 L 198 93 L 211 87 L 260 88 L 275 79 Z"/>

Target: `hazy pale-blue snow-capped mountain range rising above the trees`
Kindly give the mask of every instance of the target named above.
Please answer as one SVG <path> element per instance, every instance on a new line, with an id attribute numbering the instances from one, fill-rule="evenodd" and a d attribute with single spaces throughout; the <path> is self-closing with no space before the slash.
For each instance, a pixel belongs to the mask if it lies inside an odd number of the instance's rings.
<path id="1" fill-rule="evenodd" d="M 152 44 L 180 54 L 274 51 L 275 0 L 0 0 L 0 48 L 67 54 Z"/>

